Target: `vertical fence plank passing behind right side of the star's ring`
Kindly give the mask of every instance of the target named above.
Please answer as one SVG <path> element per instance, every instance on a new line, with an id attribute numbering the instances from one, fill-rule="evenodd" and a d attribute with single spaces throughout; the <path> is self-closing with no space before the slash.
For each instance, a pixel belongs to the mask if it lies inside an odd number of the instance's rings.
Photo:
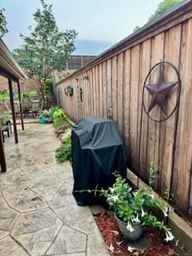
<path id="1" fill-rule="evenodd" d="M 171 30 L 166 32 L 166 45 L 165 45 L 165 60 L 171 62 L 178 69 L 179 58 L 180 58 L 180 45 L 181 45 L 181 25 L 175 26 Z M 175 81 L 177 79 L 174 70 L 168 70 L 166 74 L 167 81 Z M 173 110 L 176 98 L 177 98 L 177 87 L 171 90 L 171 98 L 167 101 L 167 110 Z M 175 99 L 174 100 L 172 100 Z M 170 190 L 170 182 L 173 170 L 173 157 L 174 157 L 174 130 L 176 122 L 177 111 L 163 122 L 163 126 L 166 126 L 164 150 L 162 156 L 162 178 L 161 178 L 161 191 L 162 194 L 168 189 Z"/>

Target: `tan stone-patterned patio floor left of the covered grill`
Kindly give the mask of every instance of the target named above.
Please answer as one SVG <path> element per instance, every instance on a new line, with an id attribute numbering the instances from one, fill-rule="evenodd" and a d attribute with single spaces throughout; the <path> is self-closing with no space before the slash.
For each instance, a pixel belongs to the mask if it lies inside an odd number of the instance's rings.
<path id="1" fill-rule="evenodd" d="M 89 207 L 77 206 L 70 162 L 58 164 L 51 125 L 27 124 L 6 138 L 0 173 L 0 255 L 109 256 Z"/>

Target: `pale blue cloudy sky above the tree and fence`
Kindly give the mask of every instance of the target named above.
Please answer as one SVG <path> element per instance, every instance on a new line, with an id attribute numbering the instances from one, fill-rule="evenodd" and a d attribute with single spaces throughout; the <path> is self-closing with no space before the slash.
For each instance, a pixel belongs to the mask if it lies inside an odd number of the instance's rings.
<path id="1" fill-rule="evenodd" d="M 46 0 L 53 4 L 60 30 L 78 32 L 74 54 L 101 54 L 142 26 L 161 0 Z M 13 50 L 21 45 L 19 34 L 28 34 L 39 0 L 0 0 L 6 9 L 9 34 L 3 38 Z"/>

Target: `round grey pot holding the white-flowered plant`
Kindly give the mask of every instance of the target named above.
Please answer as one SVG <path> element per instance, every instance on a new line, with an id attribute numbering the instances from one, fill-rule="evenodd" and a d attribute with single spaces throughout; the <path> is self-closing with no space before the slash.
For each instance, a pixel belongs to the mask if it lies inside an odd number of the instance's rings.
<path id="1" fill-rule="evenodd" d="M 131 225 L 134 228 L 134 231 L 130 232 L 129 230 L 127 230 L 126 226 L 127 226 L 127 222 L 122 222 L 122 220 L 120 220 L 116 215 L 114 215 L 117 222 L 118 222 L 118 227 L 119 230 L 121 231 L 122 235 L 127 238 L 130 241 L 136 241 L 139 238 L 141 238 L 142 233 L 143 233 L 143 229 L 142 229 L 142 225 L 141 223 L 131 223 Z"/>

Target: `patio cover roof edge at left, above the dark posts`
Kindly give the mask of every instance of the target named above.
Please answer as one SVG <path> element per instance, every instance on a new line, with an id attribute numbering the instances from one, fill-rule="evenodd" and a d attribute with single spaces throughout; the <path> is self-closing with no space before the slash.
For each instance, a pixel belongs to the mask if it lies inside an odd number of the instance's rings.
<path id="1" fill-rule="evenodd" d="M 12 78 L 27 79 L 26 74 L 18 65 L 18 62 L 15 61 L 2 39 L 0 39 L 0 68 L 5 70 L 7 74 L 10 74 Z"/>

